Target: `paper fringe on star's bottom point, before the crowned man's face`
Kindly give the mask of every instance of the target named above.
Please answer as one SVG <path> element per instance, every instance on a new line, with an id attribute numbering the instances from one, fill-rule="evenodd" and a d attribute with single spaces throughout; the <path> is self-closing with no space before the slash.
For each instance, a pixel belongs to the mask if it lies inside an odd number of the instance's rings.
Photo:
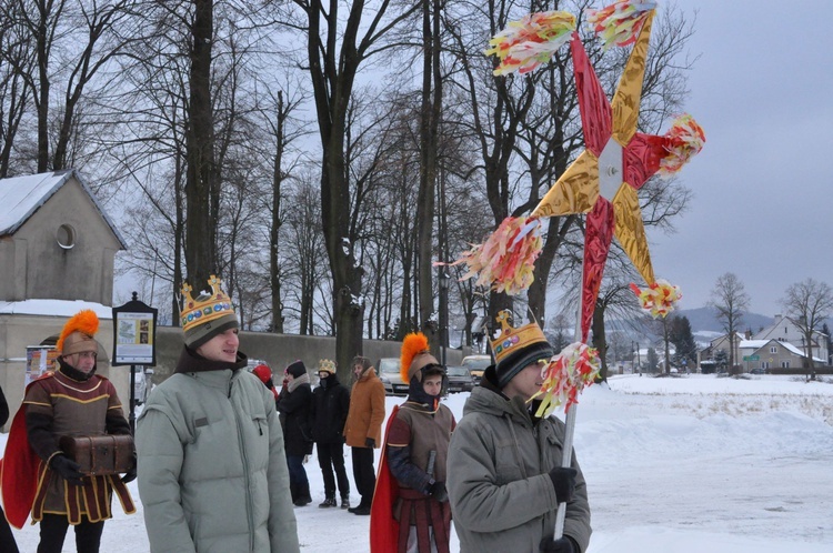
<path id="1" fill-rule="evenodd" d="M 555 408 L 564 405 L 564 412 L 573 403 L 579 403 L 579 394 L 593 384 L 599 375 L 599 351 L 588 344 L 574 342 L 561 350 L 541 369 L 543 384 L 530 398 L 543 395 L 535 416 L 550 416 Z"/>

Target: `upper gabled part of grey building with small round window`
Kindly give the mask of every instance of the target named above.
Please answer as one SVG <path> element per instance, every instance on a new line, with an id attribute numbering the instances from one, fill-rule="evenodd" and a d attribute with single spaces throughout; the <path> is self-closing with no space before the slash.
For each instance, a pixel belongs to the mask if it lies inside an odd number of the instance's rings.
<path id="1" fill-rule="evenodd" d="M 112 221 L 74 170 L 0 179 L 0 301 L 112 305 Z"/>

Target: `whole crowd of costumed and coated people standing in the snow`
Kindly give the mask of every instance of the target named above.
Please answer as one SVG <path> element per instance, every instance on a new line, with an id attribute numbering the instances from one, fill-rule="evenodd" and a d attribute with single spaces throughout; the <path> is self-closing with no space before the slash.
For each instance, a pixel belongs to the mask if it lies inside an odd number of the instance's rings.
<path id="1" fill-rule="evenodd" d="M 445 368 L 422 333 L 408 335 L 408 398 L 383 433 L 384 386 L 369 359 L 353 359 L 349 385 L 333 361 L 320 360 L 314 389 L 295 361 L 279 389 L 269 366 L 248 370 L 234 309 L 219 279 L 209 284 L 211 293 L 197 298 L 183 286 L 180 358 L 148 399 L 133 440 L 116 389 L 96 373 L 96 314 L 67 322 L 58 368 L 27 386 L 2 463 L 1 522 L 21 527 L 31 516 L 39 553 L 60 552 L 70 526 L 78 552 L 98 552 L 112 496 L 134 512 L 124 484 L 137 477 L 154 553 L 300 551 L 295 510 L 312 502 L 305 464 L 313 448 L 324 483 L 318 506 L 369 515 L 372 553 L 449 552 L 452 519 L 464 552 L 586 551 L 586 485 L 574 453 L 562 462 L 564 424 L 534 416 L 530 401 L 553 354 L 538 324 L 504 325 L 492 344 L 495 363 L 460 421 L 441 402 Z M 3 408 L 1 391 L 0 400 Z M 8 414 L 0 409 L 0 423 Z M 88 466 L 67 436 L 93 444 L 128 436 L 128 445 L 112 448 L 112 466 Z M 344 445 L 359 497 L 352 506 Z M 562 503 L 563 534 L 554 535 Z M 17 552 L 2 523 L 0 550 Z"/>

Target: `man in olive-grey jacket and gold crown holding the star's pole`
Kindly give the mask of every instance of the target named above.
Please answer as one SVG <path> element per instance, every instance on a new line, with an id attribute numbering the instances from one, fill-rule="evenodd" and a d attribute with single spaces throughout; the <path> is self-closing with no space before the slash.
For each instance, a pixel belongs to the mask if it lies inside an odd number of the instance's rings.
<path id="1" fill-rule="evenodd" d="M 541 368 L 553 351 L 535 323 L 502 330 L 495 364 L 483 373 L 451 436 L 446 486 L 461 552 L 584 553 L 590 504 L 581 469 L 562 467 L 564 424 L 538 419 Z M 559 503 L 564 535 L 553 540 Z"/>

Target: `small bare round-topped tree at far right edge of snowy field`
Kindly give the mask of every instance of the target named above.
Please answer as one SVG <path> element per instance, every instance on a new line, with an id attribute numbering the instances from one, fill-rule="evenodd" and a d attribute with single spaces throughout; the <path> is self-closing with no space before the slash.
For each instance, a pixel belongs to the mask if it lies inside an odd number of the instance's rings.
<path id="1" fill-rule="evenodd" d="M 813 334 L 821 329 L 824 320 L 833 311 L 833 289 L 826 282 L 806 279 L 791 284 L 781 300 L 786 316 L 801 331 L 806 348 L 810 369 L 815 366 L 813 359 Z"/>

